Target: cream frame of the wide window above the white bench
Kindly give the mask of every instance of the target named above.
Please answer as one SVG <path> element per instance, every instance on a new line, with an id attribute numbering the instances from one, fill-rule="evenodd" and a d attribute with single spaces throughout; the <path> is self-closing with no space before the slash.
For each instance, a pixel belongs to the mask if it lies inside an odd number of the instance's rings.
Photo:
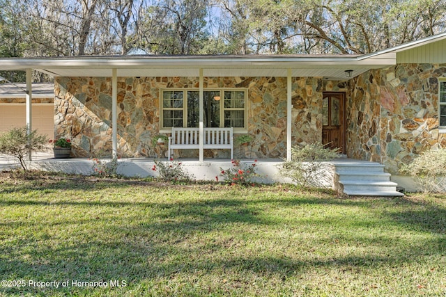
<path id="1" fill-rule="evenodd" d="M 162 88 L 160 89 L 160 132 L 161 133 L 171 133 L 171 127 L 164 127 L 164 110 L 171 110 L 171 108 L 164 108 L 164 92 L 183 92 L 183 127 L 187 127 L 187 92 L 199 92 L 199 88 Z M 225 108 L 224 107 L 224 92 L 225 91 L 242 91 L 244 93 L 244 105 L 243 109 L 241 108 Z M 234 133 L 238 134 L 247 134 L 248 133 L 248 89 L 247 88 L 205 88 L 203 92 L 220 92 L 220 125 L 219 127 L 224 127 L 224 111 L 244 111 L 244 123 L 245 127 L 233 127 Z M 176 109 L 180 110 L 180 109 Z"/>

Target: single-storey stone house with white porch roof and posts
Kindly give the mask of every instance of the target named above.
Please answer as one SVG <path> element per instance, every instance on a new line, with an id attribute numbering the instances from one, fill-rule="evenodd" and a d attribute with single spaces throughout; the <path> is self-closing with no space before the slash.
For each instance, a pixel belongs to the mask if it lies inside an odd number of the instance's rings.
<path id="1" fill-rule="evenodd" d="M 171 127 L 233 127 L 253 159 L 320 141 L 391 173 L 446 147 L 446 33 L 366 55 L 3 58 L 0 70 L 54 76 L 54 137 L 75 156 L 154 156 Z"/>

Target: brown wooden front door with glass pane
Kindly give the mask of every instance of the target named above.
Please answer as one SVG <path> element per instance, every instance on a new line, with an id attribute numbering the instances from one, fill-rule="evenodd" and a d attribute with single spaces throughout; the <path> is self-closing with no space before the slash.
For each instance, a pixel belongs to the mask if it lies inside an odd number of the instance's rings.
<path id="1" fill-rule="evenodd" d="M 345 93 L 323 93 L 322 99 L 322 143 L 326 147 L 339 147 L 346 153 Z"/>

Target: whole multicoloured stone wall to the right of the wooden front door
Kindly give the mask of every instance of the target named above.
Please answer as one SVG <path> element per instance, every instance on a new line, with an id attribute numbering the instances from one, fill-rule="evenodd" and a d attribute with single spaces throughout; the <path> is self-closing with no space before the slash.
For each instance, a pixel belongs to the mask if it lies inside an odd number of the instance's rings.
<path id="1" fill-rule="evenodd" d="M 446 147 L 438 129 L 438 77 L 446 77 L 446 65 L 401 64 L 352 79 L 348 156 L 397 173 L 420 152 Z"/>

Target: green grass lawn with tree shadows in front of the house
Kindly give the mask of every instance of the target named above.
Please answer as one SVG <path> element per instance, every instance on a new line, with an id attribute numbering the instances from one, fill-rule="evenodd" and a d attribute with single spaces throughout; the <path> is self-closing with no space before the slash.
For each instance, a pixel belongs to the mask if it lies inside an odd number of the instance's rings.
<path id="1" fill-rule="evenodd" d="M 439 196 L 10 179 L 0 296 L 445 296 Z M 68 280 L 68 287 L 29 287 Z M 125 287 L 73 287 L 118 280 Z"/>

